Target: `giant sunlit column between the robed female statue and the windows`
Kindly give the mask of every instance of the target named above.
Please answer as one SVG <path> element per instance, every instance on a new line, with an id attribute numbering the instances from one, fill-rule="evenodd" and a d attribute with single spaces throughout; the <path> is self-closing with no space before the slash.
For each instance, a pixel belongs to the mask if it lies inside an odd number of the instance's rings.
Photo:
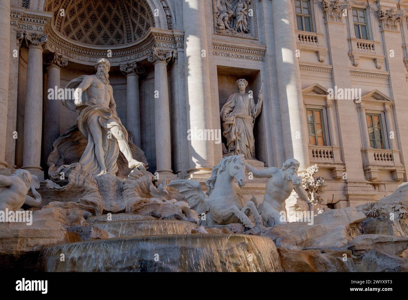
<path id="1" fill-rule="evenodd" d="M 296 41 L 290 0 L 272 0 L 275 58 L 286 159 L 300 162 L 299 170 L 309 166 L 306 113 L 302 100 L 300 71 L 295 56 Z"/>

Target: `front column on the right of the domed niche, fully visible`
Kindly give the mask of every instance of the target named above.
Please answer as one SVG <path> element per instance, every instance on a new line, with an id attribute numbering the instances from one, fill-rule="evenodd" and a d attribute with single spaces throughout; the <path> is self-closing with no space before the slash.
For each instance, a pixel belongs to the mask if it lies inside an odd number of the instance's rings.
<path id="1" fill-rule="evenodd" d="M 173 173 L 171 170 L 171 133 L 169 86 L 167 83 L 167 62 L 171 51 L 153 49 L 148 57 L 154 64 L 154 111 L 157 173 Z"/>

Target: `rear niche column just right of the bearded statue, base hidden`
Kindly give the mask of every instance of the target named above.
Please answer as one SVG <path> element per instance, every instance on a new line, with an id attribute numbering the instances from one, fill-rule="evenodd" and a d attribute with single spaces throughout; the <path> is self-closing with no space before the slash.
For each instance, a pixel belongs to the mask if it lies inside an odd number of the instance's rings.
<path id="1" fill-rule="evenodd" d="M 122 64 L 120 71 L 126 75 L 126 129 L 133 133 L 134 143 L 140 147 L 139 75 L 136 62 Z"/>

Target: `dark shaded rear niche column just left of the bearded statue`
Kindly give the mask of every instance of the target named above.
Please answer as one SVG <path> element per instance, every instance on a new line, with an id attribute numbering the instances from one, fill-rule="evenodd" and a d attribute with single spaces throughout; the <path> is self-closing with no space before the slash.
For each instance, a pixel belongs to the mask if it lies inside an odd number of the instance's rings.
<path id="1" fill-rule="evenodd" d="M 60 107 L 61 99 L 58 99 L 58 89 L 60 88 L 60 71 L 67 66 L 68 60 L 62 55 L 55 53 L 44 62 L 47 67 L 47 95 L 44 101 L 44 162 L 47 161 L 53 142 L 60 136 Z M 55 94 L 57 97 L 55 97 Z"/>

